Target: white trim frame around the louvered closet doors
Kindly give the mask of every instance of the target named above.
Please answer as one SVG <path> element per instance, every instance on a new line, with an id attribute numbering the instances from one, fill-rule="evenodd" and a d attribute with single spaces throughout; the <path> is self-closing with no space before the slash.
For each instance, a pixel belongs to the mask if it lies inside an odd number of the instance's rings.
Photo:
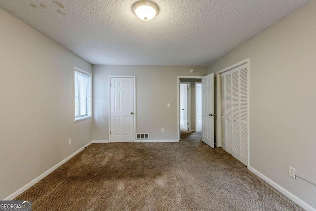
<path id="1" fill-rule="evenodd" d="M 250 63 L 249 58 L 242 60 L 240 62 L 237 62 L 236 64 L 233 64 L 221 71 L 216 72 L 216 114 L 218 115 L 216 117 L 216 146 L 221 147 L 222 146 L 222 120 L 220 118 L 221 114 L 221 96 L 220 96 L 220 75 L 222 73 L 225 73 L 227 71 L 233 70 L 241 65 L 247 65 L 248 69 L 248 167 L 250 164 Z"/>

